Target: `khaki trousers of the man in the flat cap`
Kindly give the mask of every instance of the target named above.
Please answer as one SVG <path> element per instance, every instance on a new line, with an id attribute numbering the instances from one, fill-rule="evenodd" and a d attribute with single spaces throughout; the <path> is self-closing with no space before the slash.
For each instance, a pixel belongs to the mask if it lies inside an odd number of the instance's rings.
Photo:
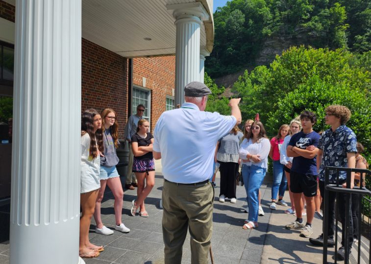
<path id="1" fill-rule="evenodd" d="M 213 227 L 214 188 L 208 181 L 182 185 L 164 181 L 162 232 L 165 264 L 180 264 L 187 229 L 191 235 L 191 263 L 208 264 Z"/>

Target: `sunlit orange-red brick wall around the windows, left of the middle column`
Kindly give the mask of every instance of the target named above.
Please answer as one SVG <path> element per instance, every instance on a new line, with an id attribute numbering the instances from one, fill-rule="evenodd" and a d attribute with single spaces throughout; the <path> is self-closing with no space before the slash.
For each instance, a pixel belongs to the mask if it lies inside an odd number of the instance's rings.
<path id="1" fill-rule="evenodd" d="M 175 56 L 133 59 L 133 84 L 151 90 L 151 131 L 166 110 L 166 95 L 172 96 L 175 88 Z"/>

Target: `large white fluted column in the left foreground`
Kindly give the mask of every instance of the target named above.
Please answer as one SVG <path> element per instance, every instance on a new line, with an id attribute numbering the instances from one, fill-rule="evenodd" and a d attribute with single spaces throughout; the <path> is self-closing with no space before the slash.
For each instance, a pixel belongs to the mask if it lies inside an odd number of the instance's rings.
<path id="1" fill-rule="evenodd" d="M 11 264 L 77 264 L 81 0 L 17 0 Z"/>

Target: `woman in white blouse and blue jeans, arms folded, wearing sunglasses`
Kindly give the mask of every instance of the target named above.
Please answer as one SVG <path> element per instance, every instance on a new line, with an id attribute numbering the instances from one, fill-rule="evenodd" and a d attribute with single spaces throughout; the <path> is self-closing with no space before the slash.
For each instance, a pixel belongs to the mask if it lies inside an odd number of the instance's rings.
<path id="1" fill-rule="evenodd" d="M 242 177 L 245 183 L 248 203 L 248 219 L 243 229 L 258 227 L 259 188 L 268 168 L 268 154 L 271 143 L 264 125 L 260 121 L 251 124 L 247 138 L 241 143 L 238 154 L 242 159 Z"/>

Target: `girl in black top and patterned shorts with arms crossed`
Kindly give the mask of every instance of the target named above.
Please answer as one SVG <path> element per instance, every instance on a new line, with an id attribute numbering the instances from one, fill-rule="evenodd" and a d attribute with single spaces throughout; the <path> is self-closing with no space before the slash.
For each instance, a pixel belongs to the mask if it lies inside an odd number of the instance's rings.
<path id="1" fill-rule="evenodd" d="M 149 122 L 141 119 L 138 121 L 137 133 L 131 137 L 131 149 L 134 154 L 133 172 L 138 180 L 137 199 L 132 201 L 130 211 L 132 216 L 140 209 L 139 216 L 148 217 L 144 200 L 154 186 L 153 136 L 148 130 Z"/>

